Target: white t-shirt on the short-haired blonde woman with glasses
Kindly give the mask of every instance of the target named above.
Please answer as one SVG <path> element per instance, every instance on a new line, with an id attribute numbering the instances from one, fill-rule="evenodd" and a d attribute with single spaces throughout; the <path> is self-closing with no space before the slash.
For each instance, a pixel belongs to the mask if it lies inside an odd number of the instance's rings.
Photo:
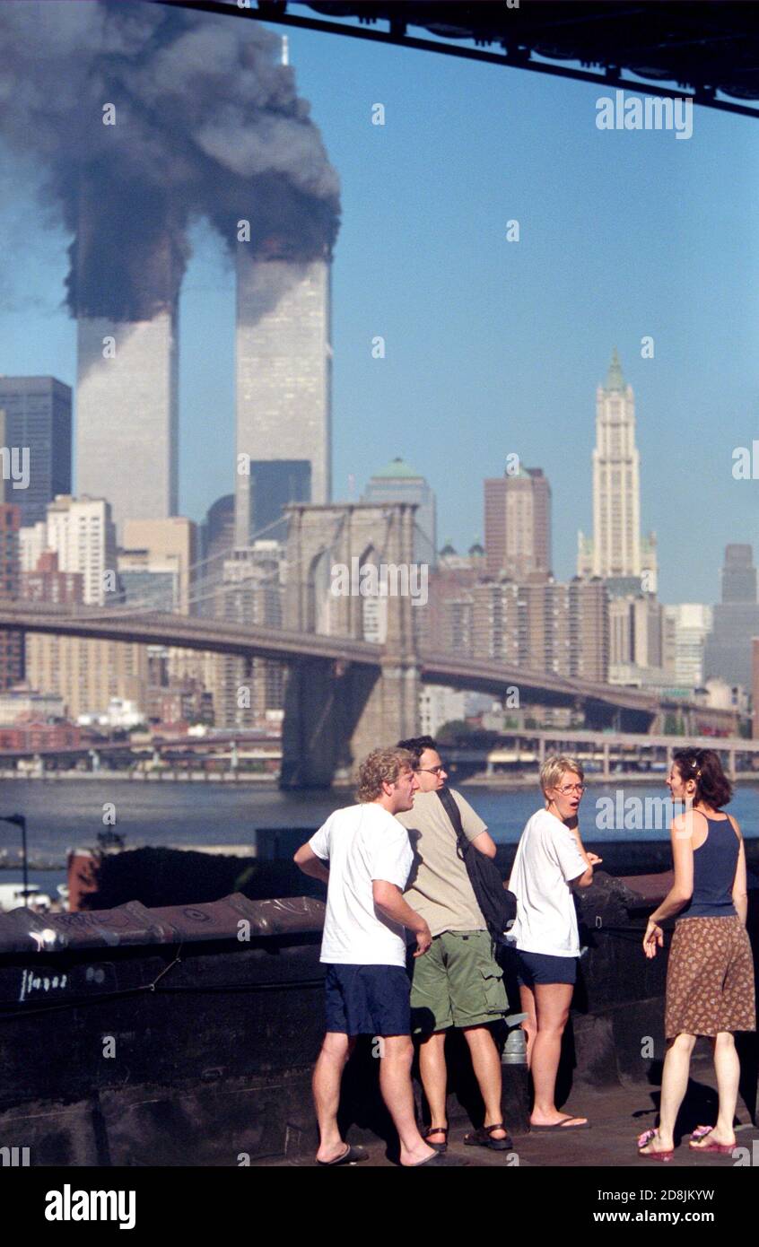
<path id="1" fill-rule="evenodd" d="M 508 882 L 516 895 L 516 919 L 508 938 L 518 949 L 580 956 L 570 882 L 586 870 L 570 828 L 547 809 L 538 809 L 522 832 Z"/>

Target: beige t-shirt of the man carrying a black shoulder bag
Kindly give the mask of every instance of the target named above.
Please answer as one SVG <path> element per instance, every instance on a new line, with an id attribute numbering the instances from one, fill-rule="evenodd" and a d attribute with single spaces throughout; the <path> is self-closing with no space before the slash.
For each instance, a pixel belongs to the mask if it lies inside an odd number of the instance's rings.
<path id="1" fill-rule="evenodd" d="M 461 813 L 467 840 L 487 831 L 461 793 L 449 789 Z M 414 865 L 405 899 L 427 923 L 432 935 L 442 932 L 486 930 L 466 865 L 456 850 L 456 832 L 435 792 L 418 792 L 414 809 L 395 816 L 408 828 Z M 475 852 L 477 852 L 475 849 Z"/>

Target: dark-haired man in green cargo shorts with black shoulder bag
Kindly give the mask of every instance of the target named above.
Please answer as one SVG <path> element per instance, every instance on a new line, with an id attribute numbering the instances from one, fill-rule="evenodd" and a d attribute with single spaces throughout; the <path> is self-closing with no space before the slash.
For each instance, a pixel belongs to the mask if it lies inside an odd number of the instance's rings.
<path id="1" fill-rule="evenodd" d="M 421 1035 L 419 1071 L 431 1114 L 424 1139 L 436 1151 L 447 1146 L 445 1036 L 457 1026 L 485 1102 L 485 1124 L 464 1142 L 507 1151 L 513 1143 L 502 1121 L 501 1059 L 490 1030 L 508 1008 L 504 973 L 457 852 L 456 828 L 437 797 L 447 779 L 437 744 L 431 736 L 418 736 L 399 747 L 416 758 L 419 781 L 414 809 L 396 816 L 409 829 L 414 849 L 405 899 L 426 919 L 432 934 L 429 951 L 414 961 L 411 983 L 411 1028 Z M 447 791 L 466 839 L 479 853 L 494 858 L 496 847 L 480 816 L 461 793 Z"/>

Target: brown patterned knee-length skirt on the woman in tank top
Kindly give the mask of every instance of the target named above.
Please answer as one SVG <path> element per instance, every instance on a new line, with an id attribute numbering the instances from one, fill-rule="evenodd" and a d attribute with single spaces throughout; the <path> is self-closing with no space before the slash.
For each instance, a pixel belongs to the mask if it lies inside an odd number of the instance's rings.
<path id="1" fill-rule="evenodd" d="M 682 918 L 667 968 L 664 1034 L 755 1030 L 754 961 L 739 918 Z"/>

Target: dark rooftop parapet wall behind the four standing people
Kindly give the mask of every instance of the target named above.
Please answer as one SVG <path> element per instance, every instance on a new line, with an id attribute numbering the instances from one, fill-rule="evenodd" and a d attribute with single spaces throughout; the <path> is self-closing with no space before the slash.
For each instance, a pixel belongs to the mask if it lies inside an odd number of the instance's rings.
<path id="1" fill-rule="evenodd" d="M 667 949 L 649 963 L 641 938 L 667 882 L 598 872 L 581 898 L 587 951 L 566 1045 L 570 1080 L 644 1084 L 662 1059 Z M 754 889 L 754 935 L 758 902 Z M 0 1146 L 30 1147 L 35 1166 L 308 1156 L 310 1070 L 324 1030 L 323 917 L 314 898 L 239 893 L 194 905 L 0 915 Z M 513 1010 L 513 981 L 508 991 Z M 641 1035 L 653 1036 L 653 1057 Z M 370 1047 L 360 1045 L 346 1075 L 353 1139 L 390 1137 Z M 454 1049 L 456 1121 L 476 1105 L 470 1066 Z M 755 1100 L 750 1060 L 747 1102 Z M 504 1112 L 525 1129 L 526 1070 L 505 1065 L 504 1075 Z"/>

